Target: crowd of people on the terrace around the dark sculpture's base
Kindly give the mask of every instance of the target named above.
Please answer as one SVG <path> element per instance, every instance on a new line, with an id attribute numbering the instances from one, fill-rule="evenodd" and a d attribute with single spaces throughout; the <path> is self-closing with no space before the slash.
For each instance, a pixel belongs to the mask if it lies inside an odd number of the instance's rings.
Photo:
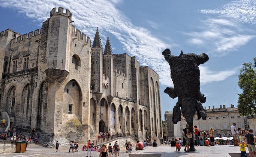
<path id="1" fill-rule="evenodd" d="M 185 147 L 185 152 L 190 152 L 190 140 L 194 141 L 195 146 L 215 146 L 215 145 L 223 145 L 223 144 L 234 144 L 234 146 L 240 146 L 241 156 L 246 157 L 246 147 L 248 147 L 249 157 L 256 156 L 256 137 L 253 134 L 253 130 L 245 130 L 238 127 L 236 129 L 236 123 L 233 123 L 231 126 L 231 135 L 232 140 L 227 141 L 227 139 L 214 139 L 214 129 L 211 127 L 208 132 L 204 131 L 200 133 L 197 126 L 193 126 L 193 132 L 189 130 L 189 124 L 186 124 L 186 127 L 181 132 L 181 138 L 172 139 L 168 141 L 164 141 L 164 144 L 169 144 L 171 147 L 175 147 L 175 151 L 180 151 L 181 147 Z M 193 136 L 191 136 L 193 134 Z M 193 138 L 192 138 L 193 137 Z M 183 140 L 181 140 L 183 139 Z"/>

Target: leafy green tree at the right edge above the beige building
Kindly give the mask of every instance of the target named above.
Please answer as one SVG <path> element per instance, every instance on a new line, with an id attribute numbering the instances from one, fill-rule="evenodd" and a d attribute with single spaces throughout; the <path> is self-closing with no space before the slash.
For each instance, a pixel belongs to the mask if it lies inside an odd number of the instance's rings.
<path id="1" fill-rule="evenodd" d="M 238 94 L 238 111 L 242 116 L 256 113 L 256 58 L 254 64 L 244 63 L 238 75 L 238 86 L 243 90 Z"/>

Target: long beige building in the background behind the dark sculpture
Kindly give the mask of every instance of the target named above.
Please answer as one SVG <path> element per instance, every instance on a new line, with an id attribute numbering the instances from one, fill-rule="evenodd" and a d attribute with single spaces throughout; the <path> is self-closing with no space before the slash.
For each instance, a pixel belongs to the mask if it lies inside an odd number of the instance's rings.
<path id="1" fill-rule="evenodd" d="M 205 111 L 207 113 L 207 120 L 198 119 L 196 114 L 193 120 L 193 125 L 196 125 L 199 129 L 199 131 L 202 133 L 204 131 L 208 132 L 208 130 L 212 127 L 215 130 L 215 136 L 223 137 L 223 136 L 230 136 L 231 135 L 231 129 L 230 127 L 233 125 L 233 123 L 237 123 L 236 129 L 240 127 L 241 129 L 244 128 L 248 130 L 248 122 L 247 118 L 244 116 L 241 116 L 238 109 L 234 107 L 234 105 L 231 104 L 230 107 L 226 107 L 226 105 L 220 105 L 219 108 L 215 108 L 214 106 L 211 108 L 210 106 L 208 109 L 205 107 Z M 171 112 L 169 112 L 172 114 Z M 165 117 L 172 117 L 168 116 L 168 112 L 165 112 Z M 183 128 L 185 128 L 187 122 L 183 115 L 181 114 L 181 121 L 180 123 L 180 133 L 175 133 L 175 128 L 173 127 L 173 123 L 171 121 L 171 118 L 165 119 L 166 122 L 166 128 L 174 128 L 174 130 L 167 129 L 168 139 L 169 138 L 179 138 L 181 135 Z M 251 120 L 251 123 L 254 123 L 254 125 L 250 124 L 250 126 L 256 126 L 256 121 Z M 178 123 L 178 125 L 179 125 Z M 168 126 L 171 125 L 170 126 Z M 254 129 L 255 130 L 255 129 Z M 169 135 L 170 134 L 170 135 Z"/>

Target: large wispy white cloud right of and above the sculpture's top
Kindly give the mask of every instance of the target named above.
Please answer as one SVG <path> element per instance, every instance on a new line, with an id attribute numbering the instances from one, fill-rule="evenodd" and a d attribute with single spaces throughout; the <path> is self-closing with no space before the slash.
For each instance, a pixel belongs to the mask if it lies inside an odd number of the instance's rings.
<path id="1" fill-rule="evenodd" d="M 189 44 L 207 46 L 211 50 L 207 53 L 225 56 L 255 38 L 252 33 L 255 31 L 242 29 L 238 22 L 214 18 L 204 20 L 199 31 L 185 34 L 191 37 L 187 41 Z"/>

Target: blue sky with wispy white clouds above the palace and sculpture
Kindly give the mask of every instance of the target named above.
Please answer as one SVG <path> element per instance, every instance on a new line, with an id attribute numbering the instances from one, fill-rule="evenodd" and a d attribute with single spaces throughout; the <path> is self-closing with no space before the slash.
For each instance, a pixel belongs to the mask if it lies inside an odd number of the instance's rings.
<path id="1" fill-rule="evenodd" d="M 163 92 L 173 86 L 163 50 L 207 53 L 199 66 L 207 108 L 237 106 L 237 75 L 256 57 L 256 0 L 1 0 L 0 31 L 39 29 L 53 7 L 69 9 L 73 25 L 91 40 L 98 27 L 103 47 L 109 36 L 113 53 L 136 56 L 159 74 L 163 120 L 177 102 Z"/>

